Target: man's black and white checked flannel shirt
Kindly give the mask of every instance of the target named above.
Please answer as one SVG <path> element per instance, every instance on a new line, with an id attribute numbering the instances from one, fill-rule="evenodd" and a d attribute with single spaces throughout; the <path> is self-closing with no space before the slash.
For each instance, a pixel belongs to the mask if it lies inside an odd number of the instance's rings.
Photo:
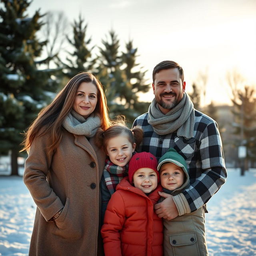
<path id="1" fill-rule="evenodd" d="M 227 173 L 224 163 L 222 141 L 217 123 L 195 110 L 194 137 L 186 140 L 176 133 L 158 135 L 148 124 L 148 113 L 142 114 L 133 126 L 140 126 L 144 138 L 139 152 L 146 151 L 159 158 L 168 148 L 174 148 L 188 165 L 190 187 L 182 193 L 194 212 L 212 197 L 224 184 Z"/>

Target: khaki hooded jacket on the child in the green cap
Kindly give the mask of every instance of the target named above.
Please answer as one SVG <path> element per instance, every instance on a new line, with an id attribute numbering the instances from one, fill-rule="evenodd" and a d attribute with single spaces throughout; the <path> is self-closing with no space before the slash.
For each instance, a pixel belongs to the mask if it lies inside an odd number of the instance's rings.
<path id="1" fill-rule="evenodd" d="M 163 188 L 163 192 L 176 196 L 189 187 L 188 172 L 182 168 L 186 180 L 180 188 L 170 191 Z M 164 198 L 160 199 L 162 202 Z M 173 220 L 164 222 L 164 256 L 208 256 L 205 226 L 204 206 L 194 212 L 177 216 Z"/>

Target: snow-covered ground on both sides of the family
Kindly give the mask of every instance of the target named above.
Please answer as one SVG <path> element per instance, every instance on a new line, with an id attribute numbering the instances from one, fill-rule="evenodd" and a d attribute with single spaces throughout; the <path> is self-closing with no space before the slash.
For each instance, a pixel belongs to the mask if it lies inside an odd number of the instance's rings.
<path id="1" fill-rule="evenodd" d="M 256 255 L 256 170 L 228 179 L 207 204 L 206 236 L 210 256 Z M 22 177 L 0 176 L 0 255 L 28 255 L 36 211 Z"/>

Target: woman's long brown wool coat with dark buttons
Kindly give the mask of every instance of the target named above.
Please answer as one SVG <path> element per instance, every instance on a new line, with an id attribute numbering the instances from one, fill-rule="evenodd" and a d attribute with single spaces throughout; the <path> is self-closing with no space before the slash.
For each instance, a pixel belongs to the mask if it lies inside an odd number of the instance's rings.
<path id="1" fill-rule="evenodd" d="M 54 153 L 47 154 L 48 145 L 49 135 L 36 138 L 25 163 L 24 183 L 37 205 L 29 255 L 103 255 L 99 184 L 105 153 L 94 138 L 66 130 Z"/>

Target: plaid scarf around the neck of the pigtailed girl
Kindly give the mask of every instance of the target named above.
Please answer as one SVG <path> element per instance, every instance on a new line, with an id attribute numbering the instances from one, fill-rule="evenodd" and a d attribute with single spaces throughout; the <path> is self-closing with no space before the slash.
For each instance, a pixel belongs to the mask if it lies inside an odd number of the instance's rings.
<path id="1" fill-rule="evenodd" d="M 112 195 L 116 191 L 116 185 L 122 180 L 122 178 L 128 176 L 128 164 L 124 167 L 120 167 L 113 164 L 108 158 L 105 163 L 106 165 L 103 170 L 103 177 L 108 191 Z"/>

